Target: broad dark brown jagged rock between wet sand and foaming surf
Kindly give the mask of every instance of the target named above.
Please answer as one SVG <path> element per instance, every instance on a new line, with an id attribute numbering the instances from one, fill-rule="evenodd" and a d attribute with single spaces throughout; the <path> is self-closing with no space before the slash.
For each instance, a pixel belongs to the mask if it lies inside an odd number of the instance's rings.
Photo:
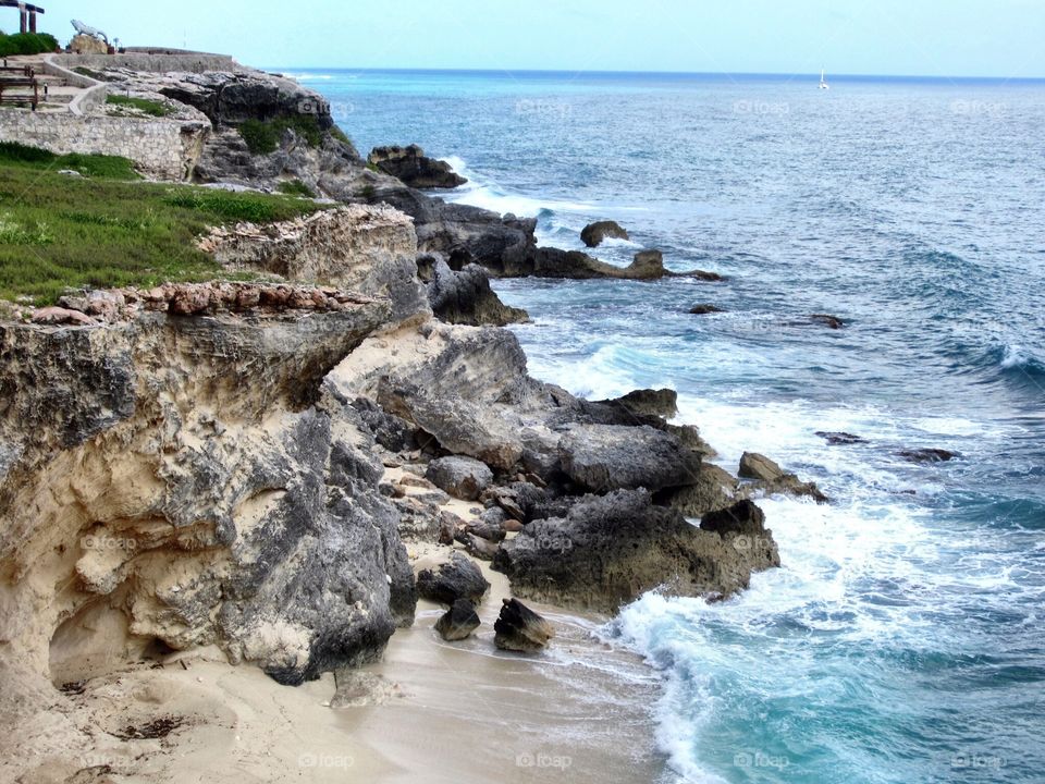
<path id="1" fill-rule="evenodd" d="M 677 596 L 729 596 L 751 573 L 779 565 L 772 532 L 760 548 L 701 530 L 650 494 L 619 490 L 588 495 L 562 518 L 534 520 L 504 542 L 493 568 L 521 597 L 615 612 L 660 587 Z M 727 541 L 727 539 L 729 539 Z"/>

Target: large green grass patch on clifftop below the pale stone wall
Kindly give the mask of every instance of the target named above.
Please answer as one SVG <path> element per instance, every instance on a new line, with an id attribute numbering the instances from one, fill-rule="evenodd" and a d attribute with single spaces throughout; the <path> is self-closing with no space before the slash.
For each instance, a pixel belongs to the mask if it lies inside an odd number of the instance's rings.
<path id="1" fill-rule="evenodd" d="M 196 247 L 211 226 L 319 209 L 290 196 L 58 174 L 56 160 L 67 158 L 0 145 L 0 299 L 45 305 L 69 289 L 229 278 Z M 114 169 L 78 158 L 87 171 Z"/>

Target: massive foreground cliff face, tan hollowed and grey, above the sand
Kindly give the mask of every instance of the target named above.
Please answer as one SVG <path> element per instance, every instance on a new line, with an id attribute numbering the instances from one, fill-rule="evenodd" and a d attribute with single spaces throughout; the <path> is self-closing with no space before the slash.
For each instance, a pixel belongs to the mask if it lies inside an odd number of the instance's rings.
<path id="1" fill-rule="evenodd" d="M 380 656 L 413 620 L 413 574 L 372 440 L 319 384 L 386 316 L 0 326 L 0 431 L 19 449 L 0 480 L 0 595 L 19 610 L 0 637 L 59 683 L 157 640 L 283 683 Z"/>

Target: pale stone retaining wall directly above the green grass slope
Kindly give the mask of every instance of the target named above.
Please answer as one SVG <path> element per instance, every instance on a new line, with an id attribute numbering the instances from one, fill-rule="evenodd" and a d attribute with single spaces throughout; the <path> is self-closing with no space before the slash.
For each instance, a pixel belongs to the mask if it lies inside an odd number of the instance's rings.
<path id="1" fill-rule="evenodd" d="M 204 122 L 0 110 L 0 140 L 69 152 L 123 156 L 146 176 L 192 176 L 210 127 Z"/>

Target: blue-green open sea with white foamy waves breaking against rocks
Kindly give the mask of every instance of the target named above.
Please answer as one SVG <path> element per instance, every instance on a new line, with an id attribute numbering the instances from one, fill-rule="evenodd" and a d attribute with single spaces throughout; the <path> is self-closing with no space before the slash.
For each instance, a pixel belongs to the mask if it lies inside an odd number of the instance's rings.
<path id="1" fill-rule="evenodd" d="M 448 199 L 565 248 L 617 220 L 599 257 L 728 278 L 496 283 L 534 376 L 672 387 L 723 465 L 762 452 L 834 500 L 762 502 L 784 565 L 741 596 L 648 595 L 603 630 L 663 673 L 669 776 L 1045 782 L 1045 83 L 297 76 L 364 154 L 450 160 Z"/>

